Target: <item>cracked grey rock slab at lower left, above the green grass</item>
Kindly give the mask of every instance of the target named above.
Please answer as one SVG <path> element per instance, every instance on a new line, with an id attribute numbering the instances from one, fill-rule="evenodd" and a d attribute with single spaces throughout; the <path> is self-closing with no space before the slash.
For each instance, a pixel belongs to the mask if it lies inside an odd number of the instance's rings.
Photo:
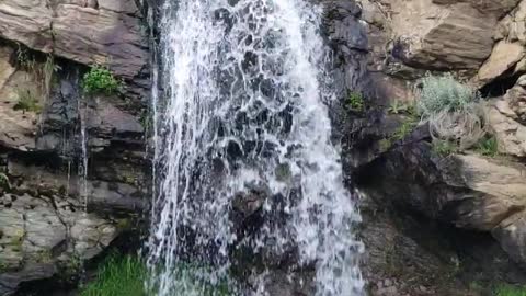
<path id="1" fill-rule="evenodd" d="M 58 196 L 0 197 L 2 295 L 23 282 L 49 278 L 59 269 L 78 269 L 76 258 L 91 259 L 115 239 L 113 221 L 75 209 L 76 201 Z"/>

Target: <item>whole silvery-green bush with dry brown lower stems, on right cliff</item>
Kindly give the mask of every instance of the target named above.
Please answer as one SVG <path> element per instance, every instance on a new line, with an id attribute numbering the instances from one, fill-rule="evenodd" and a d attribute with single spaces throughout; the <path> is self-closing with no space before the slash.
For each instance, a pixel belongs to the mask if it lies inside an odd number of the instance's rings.
<path id="1" fill-rule="evenodd" d="M 467 149 L 485 135 L 485 114 L 474 89 L 456 81 L 451 75 L 427 75 L 419 92 L 416 109 L 428 121 L 433 138 Z"/>

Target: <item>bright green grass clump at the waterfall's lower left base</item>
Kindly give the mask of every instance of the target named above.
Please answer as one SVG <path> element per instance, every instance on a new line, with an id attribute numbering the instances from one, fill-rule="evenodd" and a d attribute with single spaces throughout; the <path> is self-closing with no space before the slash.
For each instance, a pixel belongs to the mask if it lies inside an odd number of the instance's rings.
<path id="1" fill-rule="evenodd" d="M 110 258 L 98 270 L 94 282 L 81 288 L 80 296 L 147 296 L 146 264 L 134 255 Z"/>

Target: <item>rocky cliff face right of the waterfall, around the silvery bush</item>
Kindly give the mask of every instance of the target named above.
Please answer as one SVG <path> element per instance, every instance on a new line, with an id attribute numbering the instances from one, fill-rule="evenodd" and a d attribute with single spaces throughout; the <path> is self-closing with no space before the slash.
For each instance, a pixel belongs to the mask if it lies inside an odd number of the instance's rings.
<path id="1" fill-rule="evenodd" d="M 526 2 L 358 2 L 376 94 L 366 102 L 369 110 L 350 121 L 343 145 L 347 171 L 364 193 L 365 269 L 373 282 L 382 274 L 373 293 L 479 295 L 484 289 L 470 283 L 524 283 Z M 439 155 L 427 126 L 400 136 L 408 115 L 396 106 L 419 100 L 415 89 L 427 72 L 453 73 L 480 90 L 498 156 Z M 396 250 L 387 253 L 379 247 L 386 244 Z M 409 267 L 389 272 L 392 261 Z M 426 282 L 430 274 L 461 281 Z M 420 278 L 413 287 L 410 277 Z"/>

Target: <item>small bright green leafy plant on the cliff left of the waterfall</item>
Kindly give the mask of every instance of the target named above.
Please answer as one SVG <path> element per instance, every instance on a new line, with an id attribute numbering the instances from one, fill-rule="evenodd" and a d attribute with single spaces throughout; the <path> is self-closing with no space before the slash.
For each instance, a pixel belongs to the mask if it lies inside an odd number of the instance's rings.
<path id="1" fill-rule="evenodd" d="M 114 94 L 122 87 L 121 81 L 107 68 L 101 66 L 92 67 L 82 78 L 81 84 L 88 94 Z"/>

